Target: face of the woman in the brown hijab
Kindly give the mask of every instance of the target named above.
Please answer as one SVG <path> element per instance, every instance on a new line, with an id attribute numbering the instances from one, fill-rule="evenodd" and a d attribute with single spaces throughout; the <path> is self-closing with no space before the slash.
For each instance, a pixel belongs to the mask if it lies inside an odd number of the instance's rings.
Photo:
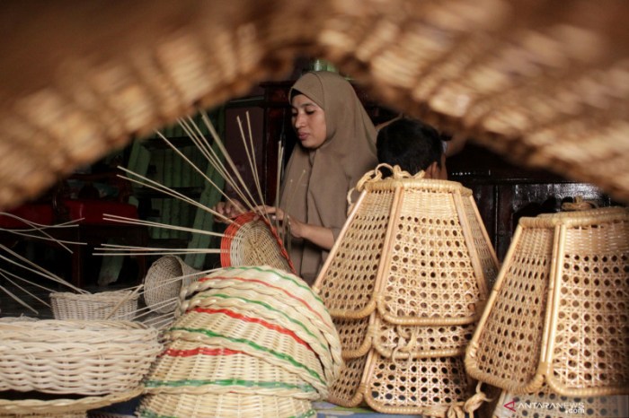
<path id="1" fill-rule="evenodd" d="M 297 94 L 291 102 L 293 127 L 303 147 L 315 150 L 327 136 L 325 112 L 304 94 Z"/>

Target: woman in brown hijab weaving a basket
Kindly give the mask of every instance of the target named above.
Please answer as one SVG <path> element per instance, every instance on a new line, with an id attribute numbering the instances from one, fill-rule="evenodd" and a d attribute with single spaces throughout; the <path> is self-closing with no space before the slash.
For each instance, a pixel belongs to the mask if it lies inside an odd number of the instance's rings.
<path id="1" fill-rule="evenodd" d="M 290 258 L 307 283 L 314 283 L 347 219 L 347 194 L 377 164 L 376 128 L 353 87 L 331 72 L 304 74 L 290 90 L 293 150 L 280 191 L 279 208 L 263 206 L 292 235 Z M 217 210 L 227 216 L 232 205 Z"/>

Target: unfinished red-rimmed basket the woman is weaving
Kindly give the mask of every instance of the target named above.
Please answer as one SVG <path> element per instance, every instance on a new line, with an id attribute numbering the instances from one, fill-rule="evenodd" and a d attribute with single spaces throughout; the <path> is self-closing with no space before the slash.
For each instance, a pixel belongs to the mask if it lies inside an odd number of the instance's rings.
<path id="1" fill-rule="evenodd" d="M 257 213 L 235 218 L 221 239 L 221 266 L 271 266 L 295 274 L 284 244 L 270 223 Z"/>

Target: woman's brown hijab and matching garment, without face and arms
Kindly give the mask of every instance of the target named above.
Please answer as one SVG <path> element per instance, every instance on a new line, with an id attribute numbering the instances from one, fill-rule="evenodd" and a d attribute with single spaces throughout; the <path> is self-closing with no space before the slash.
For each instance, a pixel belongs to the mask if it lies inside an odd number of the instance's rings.
<path id="1" fill-rule="evenodd" d="M 376 128 L 354 88 L 339 74 L 304 74 L 289 97 L 297 92 L 323 109 L 327 137 L 316 150 L 295 146 L 283 180 L 280 205 L 301 221 L 331 228 L 336 239 L 347 219 L 347 193 L 377 164 Z M 327 251 L 293 239 L 290 257 L 297 274 L 313 283 Z"/>

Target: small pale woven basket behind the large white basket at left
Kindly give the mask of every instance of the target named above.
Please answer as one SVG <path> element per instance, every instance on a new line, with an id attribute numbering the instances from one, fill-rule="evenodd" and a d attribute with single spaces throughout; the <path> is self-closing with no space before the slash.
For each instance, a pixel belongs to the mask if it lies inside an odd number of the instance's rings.
<path id="1" fill-rule="evenodd" d="M 50 293 L 55 319 L 123 319 L 136 317 L 138 295 L 133 291 Z"/>

